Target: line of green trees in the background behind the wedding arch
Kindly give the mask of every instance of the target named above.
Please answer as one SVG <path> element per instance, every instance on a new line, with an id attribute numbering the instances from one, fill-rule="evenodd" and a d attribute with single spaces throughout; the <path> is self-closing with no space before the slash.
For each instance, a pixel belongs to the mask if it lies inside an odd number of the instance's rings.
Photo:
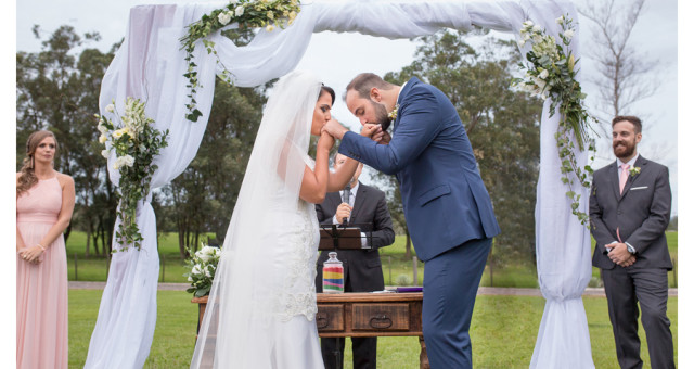
<path id="1" fill-rule="evenodd" d="M 37 38 L 39 30 L 35 26 Z M 484 34 L 448 30 L 417 38 L 414 61 L 385 79 L 401 85 L 417 76 L 441 89 L 458 109 L 502 229 L 490 263 L 502 267 L 534 259 L 541 102 L 511 88 L 520 58 L 515 44 Z M 237 42 L 252 37 L 227 36 Z M 78 35 L 61 26 L 42 40 L 41 51 L 16 54 L 17 169 L 28 135 L 53 131 L 60 144 L 55 168 L 75 178 L 77 192 L 66 237 L 73 228 L 86 232 L 87 255 L 110 253 L 117 206 L 93 115 L 119 43 L 106 52 L 89 48 L 99 39 L 97 33 Z M 472 39 L 480 44 L 471 46 Z M 171 183 L 153 191 L 157 229 L 178 232 L 182 257 L 201 241 L 223 242 L 271 85 L 237 88 L 218 79 L 197 156 Z M 373 179 L 386 191 L 394 224 L 410 250 L 395 177 L 377 174 Z"/>

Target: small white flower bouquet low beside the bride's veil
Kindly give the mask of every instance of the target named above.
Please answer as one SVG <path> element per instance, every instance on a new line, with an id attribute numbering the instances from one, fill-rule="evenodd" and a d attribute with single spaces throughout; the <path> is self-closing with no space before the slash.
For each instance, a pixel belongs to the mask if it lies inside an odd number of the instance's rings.
<path id="1" fill-rule="evenodd" d="M 215 279 L 215 271 L 217 271 L 217 264 L 219 264 L 219 257 L 221 256 L 219 247 L 208 246 L 204 243 L 202 246 L 197 252 L 188 249 L 191 257 L 185 260 L 185 264 L 188 264 L 191 271 L 183 275 L 191 282 L 191 287 L 185 292 L 193 293 L 195 297 L 209 294 Z"/>

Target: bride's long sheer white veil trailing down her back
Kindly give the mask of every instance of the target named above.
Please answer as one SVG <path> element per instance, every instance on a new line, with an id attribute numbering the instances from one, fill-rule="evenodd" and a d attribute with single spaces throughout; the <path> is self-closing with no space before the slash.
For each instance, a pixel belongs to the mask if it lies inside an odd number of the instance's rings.
<path id="1" fill-rule="evenodd" d="M 321 82 L 308 72 L 282 77 L 268 99 L 229 224 L 191 368 L 250 368 L 253 355 L 272 355 L 272 326 L 281 275 L 264 266 L 278 214 L 301 206 L 313 110 Z M 280 236 L 278 236 L 280 237 Z M 266 347 L 258 347 L 262 344 Z M 267 351 L 267 352 L 265 352 Z M 213 362 L 214 361 L 214 362 Z"/>

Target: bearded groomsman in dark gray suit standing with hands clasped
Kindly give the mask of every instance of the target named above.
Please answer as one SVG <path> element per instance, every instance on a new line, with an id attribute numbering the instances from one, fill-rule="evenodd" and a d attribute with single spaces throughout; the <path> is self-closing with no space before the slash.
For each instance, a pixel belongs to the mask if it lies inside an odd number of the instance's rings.
<path id="1" fill-rule="evenodd" d="M 665 230 L 670 221 L 668 168 L 637 152 L 641 120 L 612 120 L 617 161 L 593 175 L 590 196 L 593 266 L 602 269 L 607 307 L 625 368 L 641 368 L 638 318 L 646 332 L 651 366 L 674 368 L 672 333 L 667 317 L 668 270 L 672 262 Z"/>

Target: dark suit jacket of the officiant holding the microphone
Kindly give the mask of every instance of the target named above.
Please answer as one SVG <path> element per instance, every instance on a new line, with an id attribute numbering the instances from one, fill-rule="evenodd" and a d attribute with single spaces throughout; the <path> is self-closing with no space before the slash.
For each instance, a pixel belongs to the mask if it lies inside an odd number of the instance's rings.
<path id="1" fill-rule="evenodd" d="M 342 203 L 339 192 L 331 192 L 322 204 L 316 205 L 318 221 L 323 225 L 332 225 L 337 206 Z M 338 250 L 337 258 L 345 267 L 345 285 L 347 292 L 371 292 L 384 289 L 383 270 L 378 249 L 393 244 L 395 232 L 393 220 L 386 204 L 385 193 L 373 187 L 359 182 L 355 207 L 349 224 L 364 224 L 359 226 L 361 231 L 373 231 L 373 250 Z M 327 260 L 329 251 L 322 251 L 318 258 L 316 276 L 317 292 L 323 291 L 323 263 Z"/>

